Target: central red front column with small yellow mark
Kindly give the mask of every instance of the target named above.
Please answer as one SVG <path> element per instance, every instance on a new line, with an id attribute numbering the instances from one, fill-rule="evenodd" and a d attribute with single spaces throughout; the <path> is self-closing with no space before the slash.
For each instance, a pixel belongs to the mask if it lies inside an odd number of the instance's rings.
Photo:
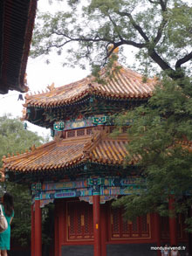
<path id="1" fill-rule="evenodd" d="M 93 196 L 93 234 L 94 234 L 94 256 L 100 256 L 100 197 Z"/>

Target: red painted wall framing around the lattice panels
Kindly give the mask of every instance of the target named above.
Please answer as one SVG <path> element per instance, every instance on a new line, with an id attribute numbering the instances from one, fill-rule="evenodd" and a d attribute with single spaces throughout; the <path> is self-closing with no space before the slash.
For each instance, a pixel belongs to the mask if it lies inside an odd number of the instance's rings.
<path id="1" fill-rule="evenodd" d="M 56 207 L 55 207 L 55 256 L 61 256 L 61 246 L 75 246 L 75 245 L 93 245 L 94 241 L 93 239 L 84 238 L 80 239 L 80 236 L 76 236 L 75 239 L 70 239 L 69 236 L 69 221 L 72 221 L 72 219 L 69 219 L 67 210 L 68 206 L 72 206 L 72 202 L 74 205 L 74 208 L 76 207 L 77 213 L 82 212 L 82 208 L 90 207 L 92 204 L 88 204 L 86 202 L 79 202 L 78 198 L 74 199 L 58 199 L 56 200 Z M 163 244 L 164 240 L 161 239 L 161 233 L 158 232 L 158 223 L 157 220 L 155 220 L 155 215 L 150 214 L 149 215 L 149 228 L 150 228 L 150 237 L 149 238 L 120 238 L 120 239 L 114 239 L 112 238 L 112 225 L 111 225 L 111 210 L 110 210 L 111 202 L 106 202 L 106 204 L 100 204 L 100 226 L 101 226 L 101 256 L 106 256 L 106 245 L 112 245 L 112 244 L 150 244 L 154 243 L 157 246 Z M 93 207 L 93 206 L 92 206 Z M 79 221 L 83 221 L 85 225 L 86 219 L 80 219 Z M 159 224 L 161 226 L 161 218 L 159 218 Z M 72 225 L 72 224 L 70 224 Z M 78 225 L 78 221 L 76 219 L 75 225 Z M 89 225 L 90 219 L 89 219 Z M 85 232 L 85 226 L 83 227 Z M 82 229 L 82 230 L 83 230 Z M 76 226 L 76 231 L 78 230 Z M 160 230 L 161 232 L 161 230 Z M 92 232 L 90 233 L 90 237 L 92 236 Z M 72 237 L 71 237 L 72 238 Z M 187 237 L 186 237 L 187 238 Z M 161 239 L 161 240 L 159 240 Z M 179 239 L 179 241 L 187 241 L 187 239 Z"/>

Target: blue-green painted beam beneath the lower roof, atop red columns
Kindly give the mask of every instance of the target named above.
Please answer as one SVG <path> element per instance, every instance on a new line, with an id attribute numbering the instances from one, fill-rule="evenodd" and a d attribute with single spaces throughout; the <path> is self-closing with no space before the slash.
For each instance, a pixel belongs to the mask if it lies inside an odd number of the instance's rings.
<path id="1" fill-rule="evenodd" d="M 92 197 L 95 195 L 115 197 L 141 192 L 141 179 L 120 177 L 93 177 L 85 180 L 61 183 L 33 183 L 32 195 L 35 200 L 53 200 L 69 197 Z M 90 201 L 90 200 L 89 200 Z"/>

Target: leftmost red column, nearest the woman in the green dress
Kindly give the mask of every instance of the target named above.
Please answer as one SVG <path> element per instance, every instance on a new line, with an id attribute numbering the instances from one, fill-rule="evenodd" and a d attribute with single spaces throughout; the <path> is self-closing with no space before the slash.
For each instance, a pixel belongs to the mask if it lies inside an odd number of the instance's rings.
<path id="1" fill-rule="evenodd" d="M 42 256 L 42 217 L 40 200 L 35 201 L 35 256 Z"/>

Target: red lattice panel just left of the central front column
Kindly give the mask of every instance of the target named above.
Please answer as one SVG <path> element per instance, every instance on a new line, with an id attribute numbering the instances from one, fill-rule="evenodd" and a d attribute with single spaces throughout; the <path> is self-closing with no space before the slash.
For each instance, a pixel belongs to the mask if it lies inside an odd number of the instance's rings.
<path id="1" fill-rule="evenodd" d="M 68 202 L 68 239 L 93 239 L 93 206 L 85 202 Z"/>

